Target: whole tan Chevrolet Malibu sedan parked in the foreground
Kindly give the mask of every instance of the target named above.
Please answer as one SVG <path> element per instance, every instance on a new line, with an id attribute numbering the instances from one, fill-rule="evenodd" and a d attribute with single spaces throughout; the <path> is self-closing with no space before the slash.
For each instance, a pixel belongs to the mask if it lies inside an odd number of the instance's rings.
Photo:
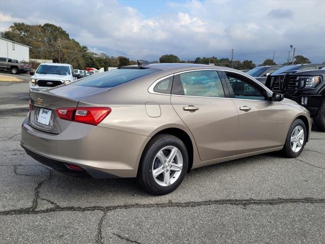
<path id="1" fill-rule="evenodd" d="M 304 107 L 243 72 L 142 61 L 31 92 L 21 146 L 59 172 L 137 177 L 164 195 L 193 168 L 270 151 L 297 157 L 310 129 Z"/>

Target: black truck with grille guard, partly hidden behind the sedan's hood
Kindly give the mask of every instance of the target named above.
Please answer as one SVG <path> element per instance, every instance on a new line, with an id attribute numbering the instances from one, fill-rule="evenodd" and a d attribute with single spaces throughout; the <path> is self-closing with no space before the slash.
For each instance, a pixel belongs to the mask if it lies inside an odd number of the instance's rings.
<path id="1" fill-rule="evenodd" d="M 266 86 L 306 107 L 325 132 L 325 64 L 290 65 L 269 76 Z M 309 70 L 310 69 L 310 70 Z"/>

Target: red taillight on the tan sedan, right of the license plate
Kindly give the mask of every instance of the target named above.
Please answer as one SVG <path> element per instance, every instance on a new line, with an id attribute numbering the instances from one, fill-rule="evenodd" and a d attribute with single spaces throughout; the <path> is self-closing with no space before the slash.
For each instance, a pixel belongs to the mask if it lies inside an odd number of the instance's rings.
<path id="1" fill-rule="evenodd" d="M 103 121 L 112 109 L 103 107 L 77 107 L 57 108 L 55 111 L 61 119 L 96 126 Z"/>

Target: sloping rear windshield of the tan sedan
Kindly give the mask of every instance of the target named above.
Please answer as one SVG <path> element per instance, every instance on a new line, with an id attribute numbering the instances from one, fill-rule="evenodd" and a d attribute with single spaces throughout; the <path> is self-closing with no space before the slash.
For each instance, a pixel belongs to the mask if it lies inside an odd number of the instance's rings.
<path id="1" fill-rule="evenodd" d="M 83 85 L 91 87 L 115 87 L 120 84 L 153 74 L 157 69 L 115 69 L 104 73 L 88 76 L 82 80 L 75 81 L 71 85 Z"/>

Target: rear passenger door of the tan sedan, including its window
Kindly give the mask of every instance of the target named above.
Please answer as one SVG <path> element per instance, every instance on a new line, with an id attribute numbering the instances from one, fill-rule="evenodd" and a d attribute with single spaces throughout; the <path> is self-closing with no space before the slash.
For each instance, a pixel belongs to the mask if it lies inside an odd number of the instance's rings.
<path id="1" fill-rule="evenodd" d="M 171 102 L 196 140 L 201 160 L 236 155 L 238 112 L 220 73 L 175 74 Z"/>

